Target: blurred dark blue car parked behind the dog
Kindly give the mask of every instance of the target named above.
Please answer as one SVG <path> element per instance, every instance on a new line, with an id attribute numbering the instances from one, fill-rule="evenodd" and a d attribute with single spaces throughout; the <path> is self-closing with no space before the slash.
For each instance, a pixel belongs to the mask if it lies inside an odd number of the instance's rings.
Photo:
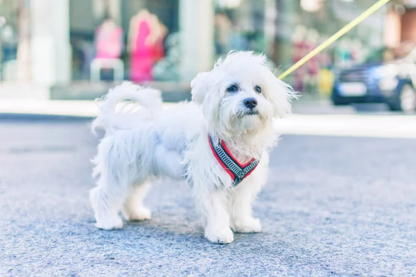
<path id="1" fill-rule="evenodd" d="M 382 48 L 358 66 L 336 73 L 334 105 L 385 103 L 392 111 L 416 109 L 416 44 Z M 383 62 L 377 62 L 383 60 Z"/>

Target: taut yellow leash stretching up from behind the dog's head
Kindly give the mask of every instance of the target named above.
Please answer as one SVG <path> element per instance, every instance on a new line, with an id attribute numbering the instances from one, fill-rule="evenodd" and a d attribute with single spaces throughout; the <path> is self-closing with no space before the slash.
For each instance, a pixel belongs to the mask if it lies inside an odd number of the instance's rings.
<path id="1" fill-rule="evenodd" d="M 324 50 L 324 48 L 327 48 L 333 42 L 336 42 L 337 39 L 339 39 L 340 37 L 345 35 L 345 33 L 347 33 L 349 30 L 351 30 L 352 28 L 354 28 L 355 26 L 360 24 L 361 21 L 363 21 L 367 17 L 370 17 L 370 15 L 372 15 L 374 12 L 376 12 L 376 10 L 379 10 L 379 8 L 383 7 L 388 2 L 390 2 L 390 0 L 379 0 L 373 6 L 371 6 L 367 10 L 365 10 L 365 12 L 363 12 L 356 19 L 349 22 L 349 24 L 345 25 L 344 28 L 342 28 L 341 30 L 338 30 L 337 33 L 333 34 L 331 37 L 329 37 L 329 39 L 322 42 L 322 44 L 320 44 L 320 46 L 313 49 L 313 51 L 308 53 L 308 55 L 302 57 L 302 59 L 299 62 L 293 64 L 293 66 L 291 66 L 290 69 L 284 71 L 284 73 L 279 76 L 279 79 L 285 78 L 287 75 L 291 74 L 293 71 L 298 69 L 300 66 L 302 66 L 303 64 L 305 64 L 306 62 L 311 60 L 312 57 L 315 57 L 315 55 L 318 55 L 318 53 L 320 53 L 322 50 Z"/>

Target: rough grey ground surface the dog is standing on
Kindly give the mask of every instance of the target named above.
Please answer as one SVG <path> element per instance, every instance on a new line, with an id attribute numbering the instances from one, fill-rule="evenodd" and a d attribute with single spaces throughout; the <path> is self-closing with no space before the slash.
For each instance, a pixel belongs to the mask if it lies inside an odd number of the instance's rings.
<path id="1" fill-rule="evenodd" d="M 153 219 L 98 231 L 85 121 L 0 121 L 0 276 L 411 276 L 416 141 L 283 136 L 255 213 L 263 233 L 203 238 L 187 186 Z"/>

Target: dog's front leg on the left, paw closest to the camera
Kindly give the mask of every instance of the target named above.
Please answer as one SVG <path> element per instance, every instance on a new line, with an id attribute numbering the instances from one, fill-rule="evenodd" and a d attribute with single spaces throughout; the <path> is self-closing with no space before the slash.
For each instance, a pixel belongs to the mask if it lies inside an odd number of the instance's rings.
<path id="1" fill-rule="evenodd" d="M 194 191 L 200 213 L 205 220 L 205 238 L 210 242 L 227 244 L 234 240 L 229 228 L 229 214 L 226 206 L 226 193 L 223 189 Z"/>

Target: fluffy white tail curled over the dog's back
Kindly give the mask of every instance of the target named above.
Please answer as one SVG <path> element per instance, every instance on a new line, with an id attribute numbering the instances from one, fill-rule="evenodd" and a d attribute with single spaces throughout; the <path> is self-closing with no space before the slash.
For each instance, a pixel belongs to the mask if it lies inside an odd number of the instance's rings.
<path id="1" fill-rule="evenodd" d="M 92 122 L 92 132 L 96 129 L 105 129 L 110 132 L 121 119 L 116 114 L 116 106 L 127 100 L 137 102 L 148 110 L 150 116 L 155 116 L 162 109 L 162 96 L 158 89 L 141 87 L 132 82 L 123 82 L 110 89 L 103 98 L 98 99 L 101 104 L 101 113 Z"/>

